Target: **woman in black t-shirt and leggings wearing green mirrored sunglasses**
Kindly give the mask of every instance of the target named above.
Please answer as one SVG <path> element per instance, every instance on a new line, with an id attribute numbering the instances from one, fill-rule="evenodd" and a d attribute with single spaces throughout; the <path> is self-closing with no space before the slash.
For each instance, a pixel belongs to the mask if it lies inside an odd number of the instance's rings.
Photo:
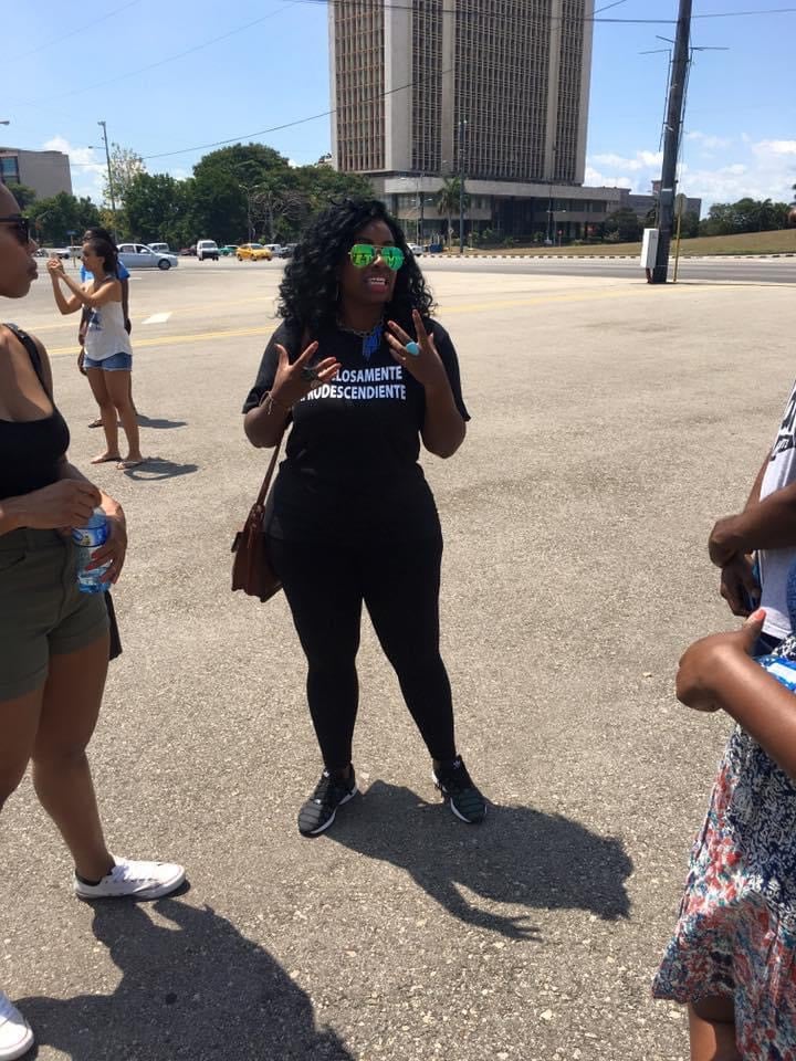
<path id="1" fill-rule="evenodd" d="M 402 231 L 375 200 L 331 207 L 285 269 L 282 325 L 243 407 L 275 445 L 292 422 L 269 517 L 271 560 L 307 658 L 324 771 L 298 815 L 316 836 L 357 794 L 352 740 L 362 606 L 400 682 L 454 815 L 483 819 L 453 735 L 439 652 L 442 535 L 418 464 L 464 441 L 468 411 L 447 332 Z"/>

